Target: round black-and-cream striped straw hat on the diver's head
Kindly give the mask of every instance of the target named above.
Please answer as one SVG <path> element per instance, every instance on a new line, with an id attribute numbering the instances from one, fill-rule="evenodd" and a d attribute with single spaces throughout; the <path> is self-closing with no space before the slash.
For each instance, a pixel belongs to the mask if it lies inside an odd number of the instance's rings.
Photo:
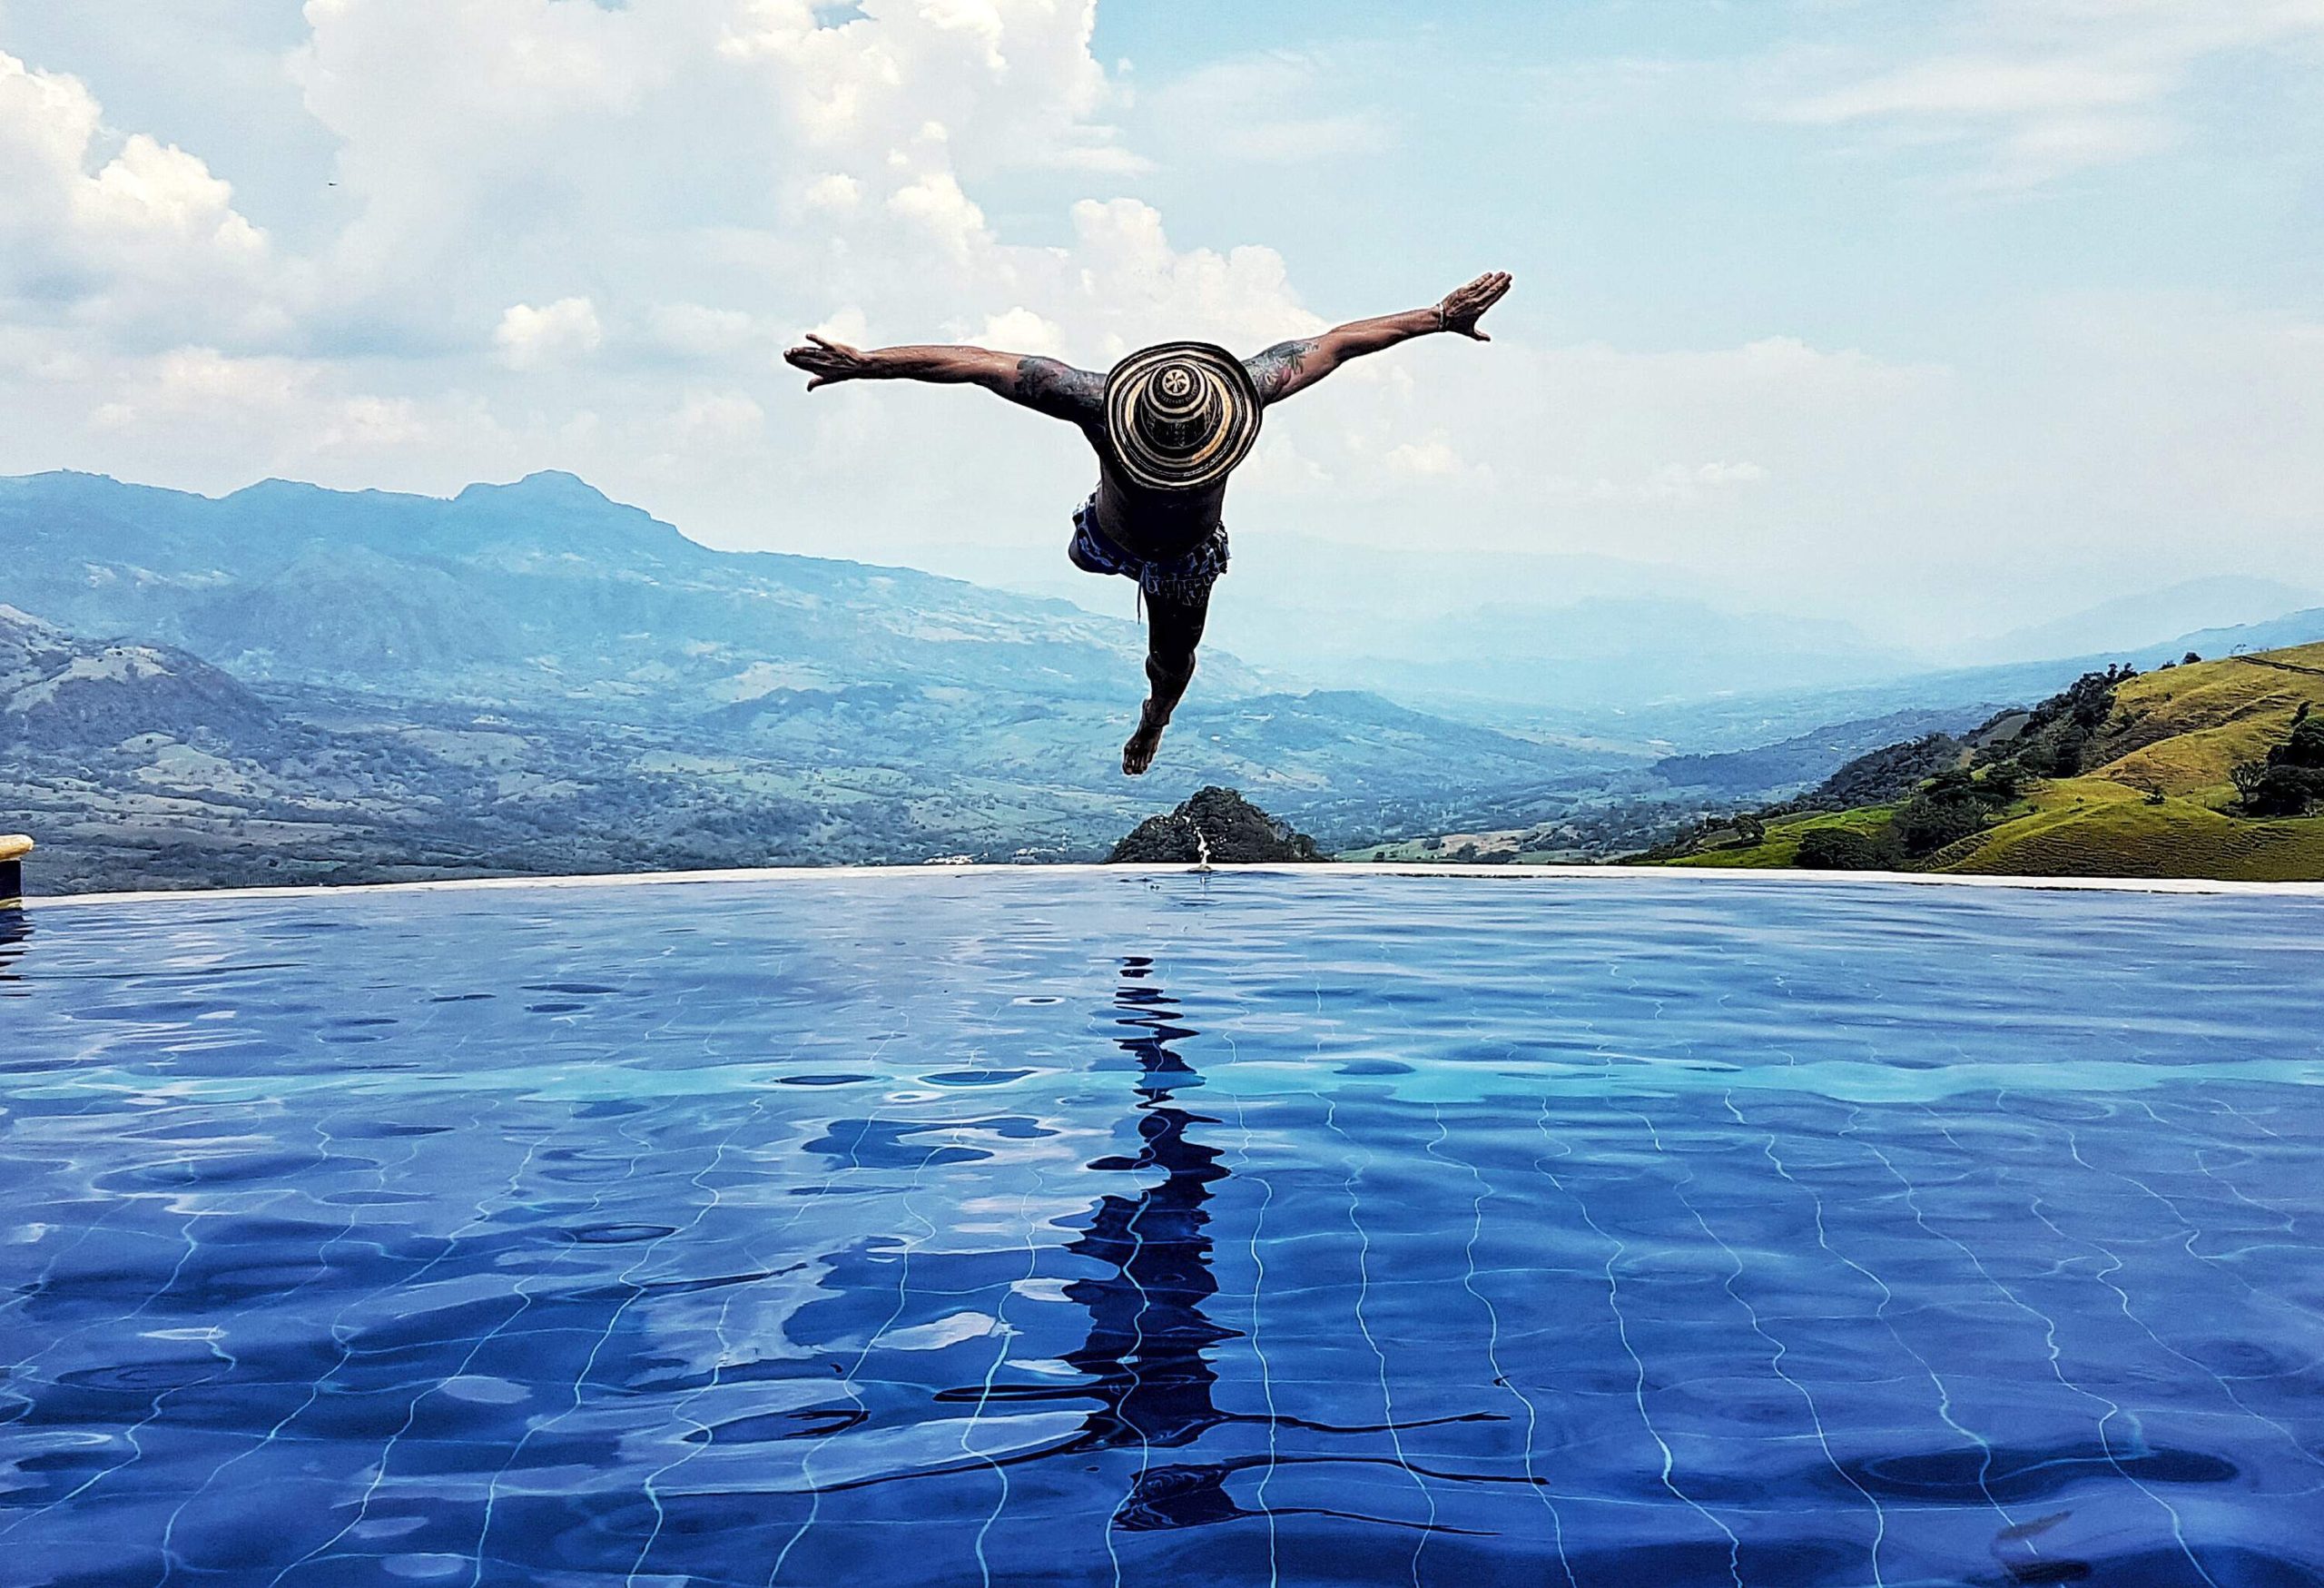
<path id="1" fill-rule="evenodd" d="M 1260 388 L 1222 346 L 1162 342 L 1106 377 L 1106 439 L 1148 491 L 1199 491 L 1260 439 Z"/>

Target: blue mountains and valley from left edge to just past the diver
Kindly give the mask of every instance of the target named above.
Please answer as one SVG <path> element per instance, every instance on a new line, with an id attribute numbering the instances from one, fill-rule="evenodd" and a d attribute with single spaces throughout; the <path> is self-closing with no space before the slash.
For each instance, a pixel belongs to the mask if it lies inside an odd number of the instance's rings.
<path id="1" fill-rule="evenodd" d="M 1206 656 L 1132 784 L 1129 621 L 711 551 L 572 477 L 207 500 L 49 474 L 0 481 L 0 595 L 65 614 L 12 618 L 51 663 L 16 693 L 74 674 L 70 723 L 0 744 L 51 886 L 1095 858 L 1204 781 L 1346 839 L 1608 765 Z"/>

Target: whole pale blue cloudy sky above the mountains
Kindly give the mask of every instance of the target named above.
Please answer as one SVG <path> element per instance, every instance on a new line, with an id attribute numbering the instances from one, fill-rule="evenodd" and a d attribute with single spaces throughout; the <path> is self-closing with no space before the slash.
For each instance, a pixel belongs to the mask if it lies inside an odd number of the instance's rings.
<path id="1" fill-rule="evenodd" d="M 786 344 L 1106 367 L 1483 270 L 1490 344 L 1269 414 L 1239 544 L 1892 644 L 2324 586 L 2324 0 L 0 0 L 0 474 L 560 467 L 1004 579 L 1081 439 Z"/>

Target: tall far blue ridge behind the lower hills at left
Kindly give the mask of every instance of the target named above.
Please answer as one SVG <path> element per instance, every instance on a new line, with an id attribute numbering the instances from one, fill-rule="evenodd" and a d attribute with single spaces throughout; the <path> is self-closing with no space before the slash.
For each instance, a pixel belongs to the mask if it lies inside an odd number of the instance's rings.
<path id="1" fill-rule="evenodd" d="M 769 658 L 818 681 L 1104 698 L 1134 623 L 913 570 L 700 546 L 569 474 L 451 500 L 265 481 L 209 500 L 88 474 L 0 484 L 16 607 L 260 679 L 462 700 L 711 704 Z M 1206 658 L 1206 688 L 1257 679 Z"/>

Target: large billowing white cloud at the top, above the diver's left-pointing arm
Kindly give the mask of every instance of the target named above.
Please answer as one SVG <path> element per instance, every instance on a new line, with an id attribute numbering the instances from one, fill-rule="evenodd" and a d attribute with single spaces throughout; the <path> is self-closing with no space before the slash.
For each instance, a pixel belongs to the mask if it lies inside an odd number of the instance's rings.
<path id="1" fill-rule="evenodd" d="M 414 346 L 541 302 L 532 272 L 560 251 L 600 267 L 609 323 L 683 298 L 974 326 L 1025 300 L 1032 253 L 995 235 L 978 181 L 1143 167 L 1104 119 L 1095 0 L 311 0 L 307 19 L 293 70 L 358 207 L 330 309 Z"/>

